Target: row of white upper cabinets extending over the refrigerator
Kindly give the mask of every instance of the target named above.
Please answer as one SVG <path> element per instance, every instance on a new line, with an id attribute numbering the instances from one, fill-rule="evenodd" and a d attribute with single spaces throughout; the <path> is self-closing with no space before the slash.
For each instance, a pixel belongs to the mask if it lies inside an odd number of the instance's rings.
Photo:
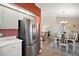
<path id="1" fill-rule="evenodd" d="M 18 20 L 23 20 L 24 18 L 31 20 L 34 19 L 34 17 L 28 14 L 0 6 L 0 27 L 5 29 L 18 29 Z"/>

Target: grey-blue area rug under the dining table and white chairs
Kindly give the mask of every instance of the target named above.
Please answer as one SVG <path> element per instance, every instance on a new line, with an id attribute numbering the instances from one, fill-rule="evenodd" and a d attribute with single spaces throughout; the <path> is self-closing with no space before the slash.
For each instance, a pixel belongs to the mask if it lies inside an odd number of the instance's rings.
<path id="1" fill-rule="evenodd" d="M 62 47 L 61 50 L 59 49 L 59 42 L 55 43 L 55 41 L 53 41 L 51 44 L 48 45 L 48 48 L 59 52 L 59 53 L 63 53 L 62 56 L 79 56 L 79 44 L 76 44 L 75 47 L 75 51 L 73 53 L 73 46 L 72 45 L 68 45 L 68 53 L 66 53 L 66 47 Z"/>

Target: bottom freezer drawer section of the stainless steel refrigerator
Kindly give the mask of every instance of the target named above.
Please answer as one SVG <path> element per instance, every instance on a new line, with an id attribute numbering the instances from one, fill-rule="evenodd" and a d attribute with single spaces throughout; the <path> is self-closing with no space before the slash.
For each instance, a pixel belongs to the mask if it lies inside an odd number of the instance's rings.
<path id="1" fill-rule="evenodd" d="M 38 54 L 38 43 L 23 47 L 23 56 L 36 56 Z M 26 49 L 25 49 L 26 48 Z"/>

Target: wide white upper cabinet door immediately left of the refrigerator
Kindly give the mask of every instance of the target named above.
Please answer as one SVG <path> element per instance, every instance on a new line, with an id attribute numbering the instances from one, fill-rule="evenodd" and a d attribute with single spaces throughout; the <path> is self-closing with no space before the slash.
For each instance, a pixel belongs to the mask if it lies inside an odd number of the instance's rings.
<path id="1" fill-rule="evenodd" d="M 4 23 L 6 29 L 18 29 L 18 13 L 15 10 L 4 8 Z"/>

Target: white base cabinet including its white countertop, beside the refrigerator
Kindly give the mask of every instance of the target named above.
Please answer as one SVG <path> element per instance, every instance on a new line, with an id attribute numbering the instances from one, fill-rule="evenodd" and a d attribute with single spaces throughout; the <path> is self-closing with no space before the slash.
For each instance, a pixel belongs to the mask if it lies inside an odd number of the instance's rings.
<path id="1" fill-rule="evenodd" d="M 0 41 L 0 56 L 22 56 L 22 40 L 6 39 Z"/>

